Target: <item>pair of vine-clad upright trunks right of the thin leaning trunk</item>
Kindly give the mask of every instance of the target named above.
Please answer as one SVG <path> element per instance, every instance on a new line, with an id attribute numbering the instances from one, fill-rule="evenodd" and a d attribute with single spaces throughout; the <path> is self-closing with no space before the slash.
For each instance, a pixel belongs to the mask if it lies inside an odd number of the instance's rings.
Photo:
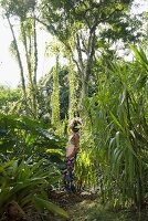
<path id="1" fill-rule="evenodd" d="M 38 117 L 36 104 L 36 69 L 38 69 L 38 48 L 36 48 L 36 27 L 35 20 L 21 21 L 21 36 L 25 51 L 28 66 L 28 92 L 30 106 L 34 118 Z"/>

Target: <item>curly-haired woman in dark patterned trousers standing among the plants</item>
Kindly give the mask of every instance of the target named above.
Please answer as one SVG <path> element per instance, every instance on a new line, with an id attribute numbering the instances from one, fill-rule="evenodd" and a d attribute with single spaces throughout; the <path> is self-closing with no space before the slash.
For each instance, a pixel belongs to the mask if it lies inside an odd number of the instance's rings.
<path id="1" fill-rule="evenodd" d="M 80 150 L 80 127 L 82 123 L 80 119 L 74 118 L 70 125 L 70 129 L 72 130 L 66 152 L 65 152 L 65 165 L 66 168 L 64 170 L 64 187 L 67 192 L 75 192 L 74 186 L 74 166 L 76 160 L 76 155 Z"/>

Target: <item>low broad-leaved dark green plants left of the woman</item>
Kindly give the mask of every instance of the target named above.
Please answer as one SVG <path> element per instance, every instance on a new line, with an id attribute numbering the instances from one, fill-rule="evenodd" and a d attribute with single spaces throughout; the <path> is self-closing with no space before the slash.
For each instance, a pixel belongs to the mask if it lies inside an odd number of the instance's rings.
<path id="1" fill-rule="evenodd" d="M 27 117 L 0 115 L 0 212 L 13 203 L 21 213 L 30 204 L 67 217 L 49 202 L 47 189 L 61 180 L 65 140 Z"/>

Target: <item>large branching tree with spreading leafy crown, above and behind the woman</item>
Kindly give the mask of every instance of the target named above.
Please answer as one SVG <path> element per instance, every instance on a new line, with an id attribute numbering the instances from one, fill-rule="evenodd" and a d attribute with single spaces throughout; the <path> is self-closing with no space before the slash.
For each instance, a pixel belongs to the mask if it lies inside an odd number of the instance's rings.
<path id="1" fill-rule="evenodd" d="M 82 97 L 88 93 L 88 81 L 98 45 L 98 38 L 110 22 L 121 22 L 131 1 L 42 1 L 41 22 L 70 51 L 82 83 Z"/>

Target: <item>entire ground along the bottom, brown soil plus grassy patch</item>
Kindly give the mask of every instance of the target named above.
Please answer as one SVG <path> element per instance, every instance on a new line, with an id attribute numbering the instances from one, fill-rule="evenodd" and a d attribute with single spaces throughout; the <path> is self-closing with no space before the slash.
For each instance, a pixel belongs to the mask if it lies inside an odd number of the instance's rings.
<path id="1" fill-rule="evenodd" d="M 70 218 L 61 218 L 53 213 L 40 215 L 33 207 L 25 211 L 25 218 L 8 218 L 0 221 L 148 221 L 148 207 L 141 213 L 136 210 L 113 210 L 109 203 L 102 206 L 98 196 L 82 192 L 67 194 L 61 191 L 51 191 L 50 201 L 67 211 Z"/>

